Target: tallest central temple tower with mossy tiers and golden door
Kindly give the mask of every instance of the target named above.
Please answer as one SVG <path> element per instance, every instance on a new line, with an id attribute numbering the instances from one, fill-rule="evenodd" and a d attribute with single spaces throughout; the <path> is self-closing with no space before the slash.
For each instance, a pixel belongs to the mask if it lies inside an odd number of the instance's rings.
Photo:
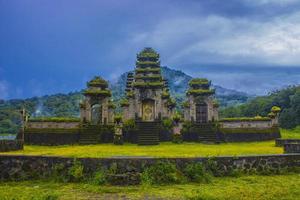
<path id="1" fill-rule="evenodd" d="M 129 73 L 122 107 L 125 120 L 153 122 L 174 114 L 175 101 L 161 75 L 159 54 L 145 48 L 137 54 L 134 73 Z"/>

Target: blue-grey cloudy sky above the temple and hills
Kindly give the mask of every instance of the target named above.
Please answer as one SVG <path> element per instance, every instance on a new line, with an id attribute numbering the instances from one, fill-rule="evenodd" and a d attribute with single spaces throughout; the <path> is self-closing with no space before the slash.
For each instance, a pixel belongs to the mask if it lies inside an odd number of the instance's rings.
<path id="1" fill-rule="evenodd" d="M 300 0 L 0 0 L 0 98 L 115 81 L 143 47 L 251 94 L 300 84 Z"/>

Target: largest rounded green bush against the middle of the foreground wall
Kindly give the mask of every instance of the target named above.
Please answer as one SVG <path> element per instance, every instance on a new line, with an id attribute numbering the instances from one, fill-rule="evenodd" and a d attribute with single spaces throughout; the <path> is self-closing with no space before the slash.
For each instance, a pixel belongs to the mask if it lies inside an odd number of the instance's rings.
<path id="1" fill-rule="evenodd" d="M 142 181 L 146 184 L 170 184 L 184 181 L 184 176 L 177 170 L 175 164 L 159 161 L 148 167 L 142 173 Z"/>

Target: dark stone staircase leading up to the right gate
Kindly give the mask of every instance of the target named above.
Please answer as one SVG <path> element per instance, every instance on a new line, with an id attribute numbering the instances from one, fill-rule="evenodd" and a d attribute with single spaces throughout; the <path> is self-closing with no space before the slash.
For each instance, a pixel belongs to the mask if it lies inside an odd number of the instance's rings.
<path id="1" fill-rule="evenodd" d="M 203 143 L 218 143 L 217 133 L 211 123 L 195 124 L 198 133 L 198 141 Z"/>

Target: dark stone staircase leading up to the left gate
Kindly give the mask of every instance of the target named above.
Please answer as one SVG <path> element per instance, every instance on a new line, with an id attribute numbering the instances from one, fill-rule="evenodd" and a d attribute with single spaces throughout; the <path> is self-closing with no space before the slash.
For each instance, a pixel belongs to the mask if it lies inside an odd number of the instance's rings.
<path id="1" fill-rule="evenodd" d="M 79 144 L 97 144 L 99 143 L 100 130 L 96 125 L 89 125 L 81 129 L 79 135 Z"/>

